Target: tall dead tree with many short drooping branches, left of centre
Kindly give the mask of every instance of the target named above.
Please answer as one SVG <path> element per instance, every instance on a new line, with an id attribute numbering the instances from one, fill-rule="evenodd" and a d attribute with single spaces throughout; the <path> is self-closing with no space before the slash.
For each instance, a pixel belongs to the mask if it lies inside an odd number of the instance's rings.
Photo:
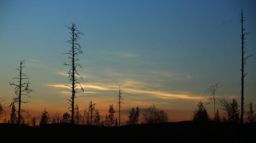
<path id="1" fill-rule="evenodd" d="M 65 26 L 67 27 L 67 26 Z M 69 28 L 70 32 L 70 40 L 67 40 L 67 43 L 71 44 L 71 50 L 69 52 L 65 53 L 68 54 L 69 59 L 71 60 L 69 63 L 65 62 L 65 66 L 69 66 L 69 72 L 67 73 L 69 81 L 71 82 L 71 85 L 66 85 L 67 87 L 71 88 L 72 96 L 71 99 L 69 99 L 69 104 L 71 107 L 71 124 L 74 124 L 74 111 L 75 111 L 75 93 L 77 91 L 77 87 L 84 92 L 83 87 L 80 85 L 79 81 L 77 80 L 77 76 L 81 77 L 79 73 L 77 72 L 77 68 L 82 66 L 79 64 L 79 58 L 77 57 L 78 54 L 82 54 L 81 46 L 77 43 L 77 40 L 79 39 L 79 35 L 82 34 L 82 32 L 79 32 L 77 30 L 77 27 L 75 26 L 75 23 L 71 24 L 71 27 Z M 84 35 L 84 34 L 82 34 Z M 82 77 L 81 77 L 82 78 Z"/>

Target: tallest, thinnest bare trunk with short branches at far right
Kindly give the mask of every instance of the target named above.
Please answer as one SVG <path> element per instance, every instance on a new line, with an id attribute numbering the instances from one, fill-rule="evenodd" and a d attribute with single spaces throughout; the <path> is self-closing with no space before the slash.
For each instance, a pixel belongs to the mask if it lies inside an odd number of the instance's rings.
<path id="1" fill-rule="evenodd" d="M 248 33 L 245 33 L 245 28 L 243 28 L 243 23 L 245 18 L 243 16 L 243 9 L 241 10 L 241 50 L 242 50 L 242 62 L 241 62 L 241 123 L 244 121 L 244 83 L 245 77 L 247 76 L 247 72 L 245 72 L 245 64 L 250 56 L 245 56 L 245 36 Z M 251 55 L 252 56 L 252 55 Z"/>

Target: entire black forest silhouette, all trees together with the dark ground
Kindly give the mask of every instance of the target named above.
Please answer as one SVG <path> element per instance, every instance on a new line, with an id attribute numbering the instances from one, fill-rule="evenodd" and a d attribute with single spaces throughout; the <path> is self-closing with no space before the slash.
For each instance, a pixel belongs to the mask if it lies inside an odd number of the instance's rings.
<path id="1" fill-rule="evenodd" d="M 133 105 L 129 111 L 127 121 L 121 123 L 123 115 L 122 108 L 125 106 L 125 98 L 122 85 L 117 89 L 117 101 L 109 103 L 108 113 L 100 114 L 97 103 L 92 100 L 87 109 L 81 109 L 75 103 L 76 93 L 84 92 L 79 79 L 79 54 L 83 54 L 82 46 L 79 44 L 80 36 L 84 34 L 77 29 L 75 23 L 65 26 L 69 30 L 67 44 L 70 49 L 64 52 L 67 61 L 64 65 L 67 70 L 67 81 L 65 85 L 71 92 L 68 99 L 68 106 L 65 113 L 60 115 L 49 115 L 46 108 L 40 118 L 32 116 L 28 111 L 22 109 L 24 97 L 32 96 L 30 82 L 32 77 L 26 75 L 26 60 L 21 60 L 18 68 L 18 77 L 11 79 L 9 85 L 13 87 L 14 97 L 9 107 L 11 112 L 6 117 L 0 116 L 3 122 L 0 124 L 0 132 L 3 138 L 11 142 L 21 140 L 40 140 L 49 142 L 52 138 L 58 142 L 249 142 L 254 140 L 256 129 L 256 114 L 253 103 L 249 103 L 245 109 L 244 83 L 247 72 L 245 64 L 251 57 L 245 55 L 245 28 L 243 27 L 244 16 L 241 11 L 241 105 L 237 99 L 222 98 L 216 99 L 216 92 L 221 85 L 216 83 L 205 91 L 210 93 L 210 99 L 214 103 L 214 116 L 210 117 L 202 101 L 198 101 L 197 109 L 191 113 L 191 121 L 170 122 L 169 115 L 156 105 L 146 109 L 140 109 L 140 105 Z M 216 109 L 216 102 L 222 108 Z M 0 115 L 5 110 L 4 99 L 0 99 Z M 220 111 L 224 115 L 220 115 Z"/>

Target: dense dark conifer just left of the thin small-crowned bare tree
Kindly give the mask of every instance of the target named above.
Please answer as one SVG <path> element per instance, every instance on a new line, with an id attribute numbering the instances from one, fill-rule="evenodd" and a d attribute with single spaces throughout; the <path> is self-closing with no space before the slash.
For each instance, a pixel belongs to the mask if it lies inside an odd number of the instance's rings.
<path id="1" fill-rule="evenodd" d="M 195 111 L 193 121 L 196 122 L 206 122 L 209 120 L 208 113 L 205 107 L 203 106 L 203 103 L 199 101 L 197 104 L 198 109 Z"/>

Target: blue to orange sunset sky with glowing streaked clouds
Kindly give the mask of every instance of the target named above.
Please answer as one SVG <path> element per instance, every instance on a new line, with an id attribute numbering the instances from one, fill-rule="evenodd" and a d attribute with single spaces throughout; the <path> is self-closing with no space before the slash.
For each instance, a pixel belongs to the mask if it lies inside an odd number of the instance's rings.
<path id="1" fill-rule="evenodd" d="M 191 120 L 203 101 L 213 115 L 207 87 L 221 85 L 216 97 L 241 102 L 241 23 L 245 15 L 245 103 L 256 104 L 256 2 L 243 1 L 0 1 L 0 97 L 5 114 L 13 99 L 9 82 L 18 76 L 20 60 L 30 77 L 31 98 L 22 105 L 40 117 L 68 111 L 71 90 L 66 54 L 74 22 L 84 36 L 78 40 L 79 79 L 85 91 L 77 92 L 80 109 L 96 103 L 102 116 L 113 104 L 117 111 L 119 85 L 123 92 L 125 123 L 132 107 L 156 105 L 170 122 Z M 15 81 L 13 81 L 15 82 Z M 217 103 L 217 108 L 220 105 Z M 117 116 L 117 114 L 116 114 Z M 142 115 L 141 115 L 142 117 Z M 143 119 L 141 118 L 141 121 Z"/>

